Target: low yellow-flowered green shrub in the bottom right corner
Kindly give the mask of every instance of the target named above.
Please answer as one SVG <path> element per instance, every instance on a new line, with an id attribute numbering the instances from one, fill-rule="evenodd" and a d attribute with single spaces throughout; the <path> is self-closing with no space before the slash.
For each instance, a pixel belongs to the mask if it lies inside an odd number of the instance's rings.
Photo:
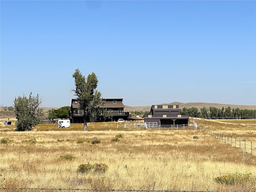
<path id="1" fill-rule="evenodd" d="M 255 178 L 251 173 L 230 173 L 228 175 L 214 178 L 215 182 L 226 185 L 249 183 L 255 185 Z"/>

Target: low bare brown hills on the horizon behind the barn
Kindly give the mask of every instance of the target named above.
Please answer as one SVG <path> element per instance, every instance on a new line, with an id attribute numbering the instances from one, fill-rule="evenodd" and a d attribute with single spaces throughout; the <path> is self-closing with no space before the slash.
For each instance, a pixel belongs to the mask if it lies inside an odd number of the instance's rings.
<path id="1" fill-rule="evenodd" d="M 240 109 L 256 109 L 256 105 L 231 105 L 231 104 L 220 104 L 220 103 L 202 103 L 202 102 L 190 102 L 190 103 L 181 103 L 181 102 L 172 102 L 172 103 L 162 103 L 158 105 L 179 105 L 179 108 L 182 109 L 196 107 L 198 110 L 200 108 L 206 107 L 209 108 L 210 106 L 216 108 L 224 108 L 230 106 L 231 109 L 240 108 Z M 151 106 L 124 106 L 124 111 L 150 111 Z"/>

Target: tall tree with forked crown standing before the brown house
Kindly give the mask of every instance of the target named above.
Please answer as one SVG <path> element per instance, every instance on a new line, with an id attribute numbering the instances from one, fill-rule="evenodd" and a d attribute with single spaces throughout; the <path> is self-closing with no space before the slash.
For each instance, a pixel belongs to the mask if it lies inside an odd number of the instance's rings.
<path id="1" fill-rule="evenodd" d="M 87 131 L 86 119 L 90 117 L 96 118 L 100 111 L 100 105 L 104 104 L 101 93 L 96 89 L 98 79 L 94 72 L 89 74 L 87 78 L 81 74 L 79 69 L 76 69 L 72 75 L 75 80 L 75 96 L 80 101 L 79 110 L 83 115 L 84 131 Z"/>

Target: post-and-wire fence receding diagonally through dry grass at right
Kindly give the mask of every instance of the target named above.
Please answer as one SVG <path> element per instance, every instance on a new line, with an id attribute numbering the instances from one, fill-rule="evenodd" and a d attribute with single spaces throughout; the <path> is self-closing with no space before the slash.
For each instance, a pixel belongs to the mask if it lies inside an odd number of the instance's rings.
<path id="1" fill-rule="evenodd" d="M 208 127 L 202 127 L 202 130 L 206 131 L 207 134 L 212 134 L 217 140 L 230 144 L 231 146 L 242 148 L 246 152 L 256 154 L 256 140 L 236 136 L 233 134 L 226 134 L 217 129 Z"/>

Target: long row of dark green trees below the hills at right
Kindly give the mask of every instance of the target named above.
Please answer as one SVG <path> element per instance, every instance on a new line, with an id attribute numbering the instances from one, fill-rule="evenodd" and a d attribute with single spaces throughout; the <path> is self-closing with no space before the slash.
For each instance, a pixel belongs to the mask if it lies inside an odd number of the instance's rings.
<path id="1" fill-rule="evenodd" d="M 225 119 L 255 119 L 256 109 L 240 109 L 232 108 L 230 106 L 224 108 L 216 108 L 210 106 L 203 107 L 198 110 L 196 107 L 182 108 L 181 114 L 188 114 L 190 117 L 196 118 L 225 118 Z"/>

